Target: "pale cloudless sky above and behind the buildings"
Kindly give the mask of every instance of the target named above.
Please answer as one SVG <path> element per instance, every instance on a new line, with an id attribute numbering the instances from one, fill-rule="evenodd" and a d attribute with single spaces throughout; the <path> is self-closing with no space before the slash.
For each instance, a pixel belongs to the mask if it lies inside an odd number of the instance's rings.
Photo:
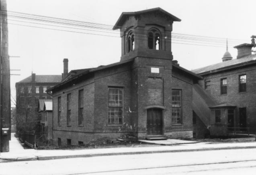
<path id="1" fill-rule="evenodd" d="M 233 47 L 250 43 L 250 37 L 256 35 L 255 6 L 255 0 L 7 0 L 8 11 L 111 26 L 122 12 L 160 7 L 181 19 L 181 22 L 173 23 L 173 33 L 200 35 L 209 39 L 218 37 L 223 41 L 218 43 L 218 47 L 185 41 L 181 41 L 183 44 L 172 43 L 174 59 L 188 70 L 221 62 L 226 51 L 225 38 L 237 41 L 229 43 L 229 52 L 236 59 L 237 50 Z M 63 58 L 69 59 L 69 71 L 120 61 L 121 38 L 118 34 L 115 35 L 117 37 L 106 37 L 84 34 L 95 34 L 93 31 L 55 31 L 19 26 L 16 24 L 20 23 L 14 20 L 8 18 L 10 69 L 20 69 L 11 71 L 11 74 L 20 75 L 11 75 L 13 98 L 16 94 L 15 83 L 32 72 L 37 75 L 63 73 Z"/>

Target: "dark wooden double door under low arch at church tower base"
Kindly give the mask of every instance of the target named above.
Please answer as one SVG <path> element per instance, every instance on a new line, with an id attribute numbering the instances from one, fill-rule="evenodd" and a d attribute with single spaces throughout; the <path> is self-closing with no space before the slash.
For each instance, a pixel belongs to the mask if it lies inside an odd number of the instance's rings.
<path id="1" fill-rule="evenodd" d="M 163 110 L 147 109 L 147 135 L 163 135 Z"/>

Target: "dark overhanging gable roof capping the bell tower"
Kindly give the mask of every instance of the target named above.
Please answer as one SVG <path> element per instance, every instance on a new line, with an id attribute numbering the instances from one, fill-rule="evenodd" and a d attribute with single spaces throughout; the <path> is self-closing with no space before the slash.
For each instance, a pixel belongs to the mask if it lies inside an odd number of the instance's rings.
<path id="1" fill-rule="evenodd" d="M 180 18 L 177 18 L 176 16 L 170 14 L 169 12 L 166 12 L 165 10 L 163 10 L 160 7 L 157 7 L 157 8 L 151 8 L 151 9 L 141 10 L 141 11 L 137 11 L 137 12 L 123 12 L 120 15 L 120 17 L 118 18 L 116 24 L 114 25 L 113 30 L 120 29 L 124 20 L 127 18 L 127 16 L 138 15 L 138 14 L 147 13 L 147 12 L 154 12 L 154 11 L 159 11 L 159 12 L 162 12 L 162 13 L 166 14 L 167 16 L 172 18 L 173 21 L 181 21 Z"/>

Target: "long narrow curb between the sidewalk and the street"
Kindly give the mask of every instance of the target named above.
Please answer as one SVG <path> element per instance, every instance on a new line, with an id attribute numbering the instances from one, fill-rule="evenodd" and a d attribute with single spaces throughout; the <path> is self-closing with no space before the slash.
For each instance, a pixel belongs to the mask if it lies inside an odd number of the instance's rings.
<path id="1" fill-rule="evenodd" d="M 68 159 L 81 157 L 97 157 L 97 156 L 113 156 L 113 155 L 136 155 L 136 154 L 153 154 L 153 153 L 179 153 L 179 152 L 193 152 L 193 151 L 214 151 L 214 150 L 228 150 L 228 149 L 254 149 L 256 146 L 249 147 L 222 147 L 222 148 L 203 148 L 203 149 L 180 149 L 180 150 L 160 150 L 160 151 L 136 151 L 136 152 L 122 152 L 122 153 L 94 153 L 81 155 L 61 155 L 61 156 L 34 156 L 34 157 L 15 157 L 0 159 L 6 161 L 35 161 L 35 160 L 53 160 L 53 159 Z"/>

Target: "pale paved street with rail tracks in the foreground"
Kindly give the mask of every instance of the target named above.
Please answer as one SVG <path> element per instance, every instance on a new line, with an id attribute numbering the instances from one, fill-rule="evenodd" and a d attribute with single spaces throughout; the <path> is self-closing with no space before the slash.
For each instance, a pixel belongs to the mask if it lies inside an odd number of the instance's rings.
<path id="1" fill-rule="evenodd" d="M 256 149 L 117 155 L 0 163 L 1 175 L 255 174 Z"/>

